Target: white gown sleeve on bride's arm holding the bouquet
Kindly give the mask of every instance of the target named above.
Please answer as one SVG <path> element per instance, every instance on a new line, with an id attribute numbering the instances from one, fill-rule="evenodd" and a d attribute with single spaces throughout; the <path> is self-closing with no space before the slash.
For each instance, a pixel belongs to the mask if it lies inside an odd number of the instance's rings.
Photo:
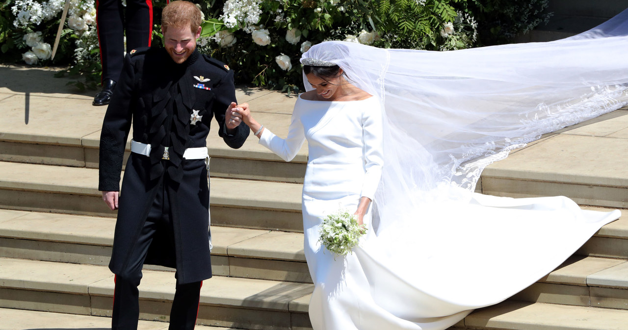
<path id="1" fill-rule="evenodd" d="M 384 165 L 384 145 L 382 133 L 382 113 L 379 101 L 364 108 L 362 113 L 362 142 L 364 143 L 364 183 L 362 197 L 373 200 L 382 176 Z"/>

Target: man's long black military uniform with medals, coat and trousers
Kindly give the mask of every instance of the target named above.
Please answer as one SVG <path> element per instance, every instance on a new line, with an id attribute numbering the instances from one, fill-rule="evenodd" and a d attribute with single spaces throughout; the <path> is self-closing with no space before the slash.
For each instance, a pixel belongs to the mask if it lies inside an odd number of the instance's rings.
<path id="1" fill-rule="evenodd" d="M 197 50 L 182 64 L 163 48 L 127 54 L 102 125 L 99 190 L 119 190 L 132 119 L 133 140 L 150 145 L 151 151 L 148 156 L 131 153 L 124 171 L 109 263 L 116 274 L 114 329 L 137 324 L 144 263 L 176 268 L 171 326 L 193 326 L 201 281 L 212 276 L 209 192 L 205 160 L 184 159 L 183 154 L 206 146 L 212 116 L 225 143 L 242 146 L 249 128 L 241 123 L 228 134 L 225 127 L 232 101 L 233 71 Z"/>

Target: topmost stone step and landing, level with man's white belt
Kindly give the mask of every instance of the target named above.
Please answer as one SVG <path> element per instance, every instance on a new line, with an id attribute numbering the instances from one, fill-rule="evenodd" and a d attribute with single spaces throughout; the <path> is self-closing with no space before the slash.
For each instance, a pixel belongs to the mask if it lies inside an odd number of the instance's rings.
<path id="1" fill-rule="evenodd" d="M 4 72 L 4 71 L 3 71 Z M 23 71 L 6 71 L 3 78 L 23 80 Z M 33 79 L 52 80 L 34 73 Z M 94 107 L 92 98 L 67 93 L 14 93 L 0 86 L 0 161 L 62 165 L 71 167 L 98 167 L 100 128 L 106 107 Z M 256 119 L 265 123 L 279 136 L 285 136 L 290 125 L 296 97 L 287 97 L 277 91 L 259 90 L 241 86 L 237 89 L 238 100 L 246 101 L 256 111 Z M 50 103 L 58 106 L 50 108 Z M 89 113 L 85 112 L 89 109 Z M 80 125 L 77 125 L 80 123 Z M 208 152 L 212 157 L 212 175 L 227 178 L 303 182 L 307 146 L 301 148 L 295 160 L 283 162 L 279 157 L 249 137 L 244 146 L 234 150 L 227 147 L 216 133 L 214 121 L 212 133 L 207 138 Z M 130 138 L 127 153 L 130 152 Z M 269 161 L 269 163 L 266 163 Z"/>

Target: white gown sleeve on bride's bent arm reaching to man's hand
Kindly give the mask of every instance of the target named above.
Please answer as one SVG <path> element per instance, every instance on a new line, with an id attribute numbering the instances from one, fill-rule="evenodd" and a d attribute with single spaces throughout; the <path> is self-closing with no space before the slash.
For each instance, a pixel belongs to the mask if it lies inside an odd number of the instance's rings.
<path id="1" fill-rule="evenodd" d="M 259 144 L 276 153 L 286 162 L 290 162 L 295 158 L 303 142 L 305 142 L 305 131 L 303 131 L 303 123 L 301 123 L 300 114 L 296 106 L 292 113 L 290 127 L 288 127 L 288 137 L 285 139 L 280 138 L 266 127 L 264 127 L 262 135 L 259 137 Z"/>

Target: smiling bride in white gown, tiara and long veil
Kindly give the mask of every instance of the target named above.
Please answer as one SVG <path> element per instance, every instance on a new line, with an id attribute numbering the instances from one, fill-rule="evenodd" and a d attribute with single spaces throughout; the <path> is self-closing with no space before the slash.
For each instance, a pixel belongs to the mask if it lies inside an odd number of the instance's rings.
<path id="1" fill-rule="evenodd" d="M 492 162 L 626 104 L 628 11 L 578 36 L 460 51 L 326 42 L 303 54 L 306 93 L 283 139 L 235 108 L 286 161 L 308 141 L 305 256 L 314 329 L 446 329 L 559 266 L 619 210 L 566 197 L 474 193 Z M 353 254 L 318 242 L 355 212 Z"/>

